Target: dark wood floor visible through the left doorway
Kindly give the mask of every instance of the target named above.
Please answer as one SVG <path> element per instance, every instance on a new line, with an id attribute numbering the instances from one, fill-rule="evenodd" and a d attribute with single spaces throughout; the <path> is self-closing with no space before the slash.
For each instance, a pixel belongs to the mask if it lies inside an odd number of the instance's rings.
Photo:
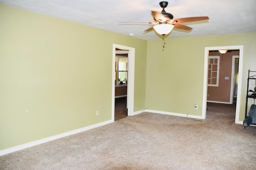
<path id="1" fill-rule="evenodd" d="M 127 97 L 115 99 L 115 121 L 127 117 L 126 100 Z"/>

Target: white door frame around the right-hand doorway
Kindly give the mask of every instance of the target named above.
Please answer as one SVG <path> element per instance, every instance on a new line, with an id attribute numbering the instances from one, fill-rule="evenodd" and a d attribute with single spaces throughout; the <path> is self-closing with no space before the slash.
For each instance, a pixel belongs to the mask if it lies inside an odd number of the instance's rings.
<path id="1" fill-rule="evenodd" d="M 205 47 L 204 48 L 204 84 L 203 84 L 203 100 L 202 100 L 202 119 L 206 118 L 206 104 L 207 104 L 207 76 L 208 76 L 208 56 L 209 51 L 215 50 L 239 50 L 239 66 L 238 66 L 238 86 L 237 86 L 237 98 L 236 98 L 236 119 L 235 123 L 239 123 L 239 111 L 241 103 L 241 86 L 242 86 L 242 66 L 244 46 L 220 46 L 220 47 Z"/>

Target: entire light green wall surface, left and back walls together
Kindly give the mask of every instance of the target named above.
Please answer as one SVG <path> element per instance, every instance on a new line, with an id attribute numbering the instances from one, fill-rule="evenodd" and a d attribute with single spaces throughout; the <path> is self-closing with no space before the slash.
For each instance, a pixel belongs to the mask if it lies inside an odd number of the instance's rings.
<path id="1" fill-rule="evenodd" d="M 113 43 L 136 51 L 134 111 L 200 116 L 204 47 L 244 45 L 242 96 L 248 69 L 256 70 L 256 33 L 166 39 L 162 51 L 161 39 L 147 42 L 3 4 L 0 24 L 0 150 L 110 120 Z M 242 97 L 240 121 L 244 107 Z"/>

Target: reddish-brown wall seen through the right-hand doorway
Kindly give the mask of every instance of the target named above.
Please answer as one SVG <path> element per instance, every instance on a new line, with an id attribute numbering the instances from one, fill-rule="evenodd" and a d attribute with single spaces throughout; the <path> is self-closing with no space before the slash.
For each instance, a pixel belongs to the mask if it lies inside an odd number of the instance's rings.
<path id="1" fill-rule="evenodd" d="M 230 88 L 231 88 L 231 70 L 232 70 L 232 56 L 239 55 L 239 51 L 232 51 L 223 55 L 219 52 L 211 52 L 209 56 L 220 56 L 220 73 L 219 73 L 219 86 L 208 86 L 207 100 L 215 102 L 230 102 Z M 229 80 L 225 80 L 229 77 Z"/>

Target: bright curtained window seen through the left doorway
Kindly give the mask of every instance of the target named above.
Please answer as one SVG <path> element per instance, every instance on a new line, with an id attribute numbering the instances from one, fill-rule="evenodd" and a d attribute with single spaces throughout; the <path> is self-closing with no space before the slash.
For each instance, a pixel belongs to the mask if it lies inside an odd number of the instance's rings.
<path id="1" fill-rule="evenodd" d="M 116 69 L 115 69 L 116 80 L 117 78 L 119 78 L 121 81 L 124 81 L 124 79 L 127 80 L 127 74 L 128 74 L 127 63 L 128 63 L 128 57 L 116 56 Z"/>

